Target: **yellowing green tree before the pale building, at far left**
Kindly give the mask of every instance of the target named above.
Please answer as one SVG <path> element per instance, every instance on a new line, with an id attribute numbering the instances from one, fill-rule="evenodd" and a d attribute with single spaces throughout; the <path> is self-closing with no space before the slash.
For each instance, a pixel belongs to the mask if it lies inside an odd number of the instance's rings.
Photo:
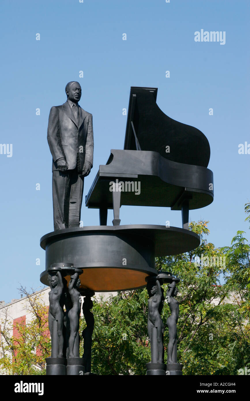
<path id="1" fill-rule="evenodd" d="M 45 375 L 45 358 L 50 355 L 48 331 L 48 306 L 41 300 L 40 292 L 32 294 L 21 287 L 27 297 L 26 312 L 32 319 L 25 324 L 16 323 L 16 335 L 12 335 L 13 320 L 8 306 L 0 322 L 0 368 L 13 375 Z"/>

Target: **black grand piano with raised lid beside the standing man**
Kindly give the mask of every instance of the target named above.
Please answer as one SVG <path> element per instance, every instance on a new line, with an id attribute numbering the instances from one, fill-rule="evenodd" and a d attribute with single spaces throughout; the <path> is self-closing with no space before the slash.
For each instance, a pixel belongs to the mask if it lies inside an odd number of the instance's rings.
<path id="1" fill-rule="evenodd" d="M 121 205 L 161 206 L 180 210 L 188 229 L 189 210 L 213 201 L 206 136 L 165 115 L 156 97 L 157 88 L 131 87 L 124 149 L 111 150 L 86 196 L 86 206 L 100 211 L 100 225 L 107 225 L 108 209 L 119 225 Z"/>

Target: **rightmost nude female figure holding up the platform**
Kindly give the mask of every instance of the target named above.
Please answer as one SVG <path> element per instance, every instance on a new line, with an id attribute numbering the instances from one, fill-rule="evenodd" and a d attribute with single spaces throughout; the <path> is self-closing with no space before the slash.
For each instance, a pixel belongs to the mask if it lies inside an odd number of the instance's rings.
<path id="1" fill-rule="evenodd" d="M 168 285 L 167 296 L 168 305 L 171 311 L 171 315 L 167 318 L 167 326 L 168 326 L 168 334 L 169 334 L 169 343 L 167 346 L 167 363 L 176 363 L 176 354 L 175 354 L 175 342 L 177 338 L 177 321 L 179 318 L 179 302 L 173 298 L 176 296 L 178 289 L 176 287 L 175 282 L 173 281 Z"/>

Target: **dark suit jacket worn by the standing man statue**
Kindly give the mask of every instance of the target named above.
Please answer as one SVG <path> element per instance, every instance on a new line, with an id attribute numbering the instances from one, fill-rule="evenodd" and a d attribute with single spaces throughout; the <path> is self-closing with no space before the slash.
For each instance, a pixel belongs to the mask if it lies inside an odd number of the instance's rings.
<path id="1" fill-rule="evenodd" d="M 93 167 L 93 123 L 92 114 L 79 106 L 79 125 L 69 103 L 53 106 L 48 117 L 47 140 L 52 154 L 52 171 L 58 170 L 57 162 L 73 170 L 77 165 L 77 154 L 81 170 L 88 162 Z"/>

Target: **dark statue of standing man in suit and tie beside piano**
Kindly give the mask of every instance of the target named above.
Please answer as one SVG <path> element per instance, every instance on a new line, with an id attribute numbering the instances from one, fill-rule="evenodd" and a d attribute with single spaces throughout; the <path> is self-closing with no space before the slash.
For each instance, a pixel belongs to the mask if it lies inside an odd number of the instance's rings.
<path id="1" fill-rule="evenodd" d="M 67 83 L 65 92 L 67 101 L 51 107 L 48 118 L 54 231 L 79 227 L 84 177 L 93 167 L 92 114 L 78 104 L 81 99 L 78 82 Z"/>

